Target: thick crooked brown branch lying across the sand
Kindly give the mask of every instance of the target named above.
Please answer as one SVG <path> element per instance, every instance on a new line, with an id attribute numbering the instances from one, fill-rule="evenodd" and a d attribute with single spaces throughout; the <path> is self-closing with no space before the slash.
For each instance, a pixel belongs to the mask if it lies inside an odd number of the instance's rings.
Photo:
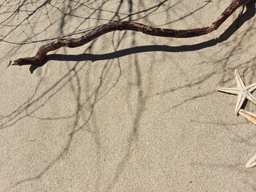
<path id="1" fill-rule="evenodd" d="M 109 33 L 114 30 L 134 30 L 142 32 L 143 34 L 149 34 L 160 37 L 169 37 L 169 38 L 192 38 L 201 36 L 204 34 L 209 34 L 214 30 L 217 30 L 231 14 L 240 6 L 246 6 L 251 0 L 234 0 L 230 3 L 230 6 L 222 12 L 222 14 L 217 18 L 211 26 L 195 28 L 191 30 L 171 30 L 163 28 L 154 28 L 152 26 L 146 26 L 138 22 L 110 22 L 102 26 L 98 26 L 90 33 L 83 35 L 80 38 L 58 38 L 54 42 L 50 42 L 46 45 L 40 46 L 38 53 L 31 58 L 18 58 L 15 60 L 12 65 L 14 66 L 23 66 L 23 65 L 40 65 L 46 59 L 46 54 L 49 51 L 57 50 L 62 46 L 67 46 L 74 48 L 77 46 L 83 46 L 87 42 L 92 41 L 94 38 L 102 36 L 102 34 Z M 11 61 L 10 61 L 11 64 Z"/>

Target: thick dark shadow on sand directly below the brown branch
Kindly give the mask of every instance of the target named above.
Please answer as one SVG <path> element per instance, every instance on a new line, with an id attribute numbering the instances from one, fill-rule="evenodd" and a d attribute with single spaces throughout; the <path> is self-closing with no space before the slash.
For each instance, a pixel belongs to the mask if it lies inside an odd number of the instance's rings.
<path id="1" fill-rule="evenodd" d="M 200 42 L 194 45 L 186 45 L 186 46 L 166 46 L 166 45 L 150 45 L 150 46 L 135 46 L 124 50 L 114 51 L 108 54 L 49 54 L 46 57 L 46 61 L 42 63 L 40 66 L 30 66 L 31 74 L 36 70 L 38 67 L 41 67 L 46 64 L 48 61 L 73 61 L 73 62 L 82 62 L 82 61 L 102 61 L 112 58 L 122 58 L 126 55 L 130 54 L 138 54 L 138 53 L 145 53 L 145 52 L 155 52 L 155 51 L 162 51 L 162 52 L 187 52 L 187 51 L 194 51 L 194 50 L 202 50 L 208 48 L 210 46 L 216 46 L 218 43 L 225 42 L 229 39 L 232 34 L 236 30 L 238 30 L 246 21 L 253 18 L 256 11 L 255 11 L 255 1 L 253 0 L 248 5 L 246 5 L 246 12 L 243 13 L 240 17 L 236 18 L 234 22 L 218 37 L 211 39 L 206 42 Z"/>

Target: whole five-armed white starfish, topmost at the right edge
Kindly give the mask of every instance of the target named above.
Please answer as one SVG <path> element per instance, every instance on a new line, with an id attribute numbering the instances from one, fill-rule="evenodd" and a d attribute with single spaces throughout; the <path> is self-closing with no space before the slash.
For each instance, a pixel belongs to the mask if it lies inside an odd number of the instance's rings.
<path id="1" fill-rule="evenodd" d="M 228 93 L 228 94 L 237 94 L 238 95 L 238 101 L 235 106 L 235 114 L 238 114 L 238 111 L 240 110 L 242 103 L 246 100 L 246 98 L 250 101 L 256 104 L 256 98 L 252 94 L 250 94 L 252 91 L 256 90 L 256 83 L 251 84 L 250 86 L 245 86 L 244 82 L 242 82 L 242 78 L 240 77 L 240 74 L 238 73 L 238 70 L 234 70 L 235 79 L 238 85 L 238 88 L 218 88 L 217 90 Z"/>

